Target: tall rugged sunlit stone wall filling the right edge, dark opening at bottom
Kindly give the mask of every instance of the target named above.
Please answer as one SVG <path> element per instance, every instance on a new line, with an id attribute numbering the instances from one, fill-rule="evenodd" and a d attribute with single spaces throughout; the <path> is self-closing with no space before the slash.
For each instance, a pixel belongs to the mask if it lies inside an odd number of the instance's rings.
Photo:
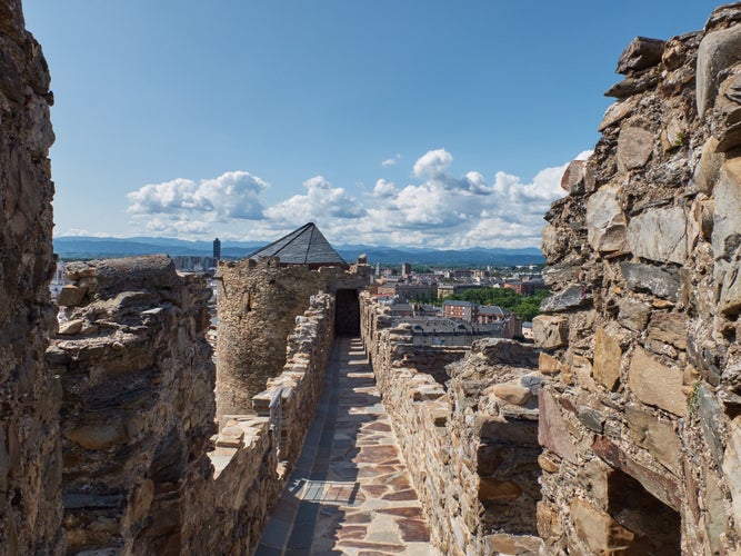
<path id="1" fill-rule="evenodd" d="M 741 548 L 741 3 L 638 38 L 543 231 L 548 552 Z"/>

